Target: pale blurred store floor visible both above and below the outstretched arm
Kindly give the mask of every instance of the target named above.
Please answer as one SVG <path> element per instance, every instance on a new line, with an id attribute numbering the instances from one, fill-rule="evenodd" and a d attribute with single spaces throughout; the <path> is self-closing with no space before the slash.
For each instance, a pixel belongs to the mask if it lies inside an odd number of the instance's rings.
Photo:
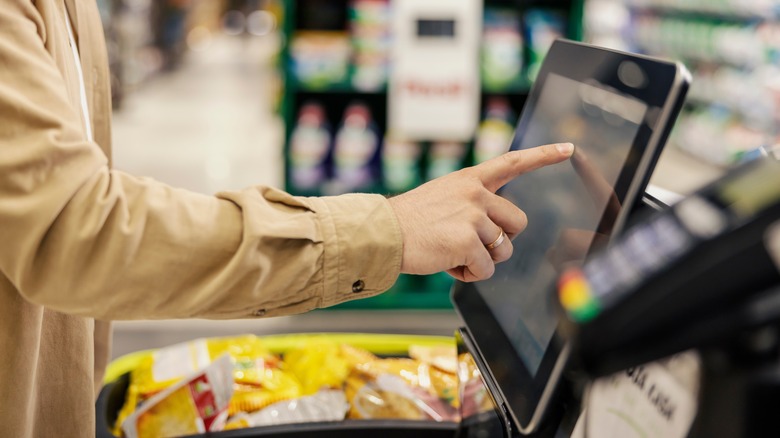
<path id="1" fill-rule="evenodd" d="M 118 169 L 206 194 L 281 187 L 282 125 L 273 113 L 272 42 L 219 38 L 155 76 L 114 114 Z M 244 321 L 114 325 L 114 357 L 197 337 L 240 333 L 364 332 L 452 335 L 452 311 L 333 311 Z"/>

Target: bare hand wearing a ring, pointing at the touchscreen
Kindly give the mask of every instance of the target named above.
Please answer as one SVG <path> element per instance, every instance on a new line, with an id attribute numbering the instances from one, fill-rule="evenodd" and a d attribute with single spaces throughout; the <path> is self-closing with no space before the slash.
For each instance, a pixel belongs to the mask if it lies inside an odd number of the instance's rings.
<path id="1" fill-rule="evenodd" d="M 573 152 L 571 143 L 507 152 L 390 198 L 403 235 L 401 272 L 447 271 L 466 282 L 492 276 L 495 264 L 512 255 L 512 239 L 528 223 L 525 213 L 496 191 L 518 175 L 567 160 Z M 502 230 L 509 238 L 489 250 L 486 245 Z"/>

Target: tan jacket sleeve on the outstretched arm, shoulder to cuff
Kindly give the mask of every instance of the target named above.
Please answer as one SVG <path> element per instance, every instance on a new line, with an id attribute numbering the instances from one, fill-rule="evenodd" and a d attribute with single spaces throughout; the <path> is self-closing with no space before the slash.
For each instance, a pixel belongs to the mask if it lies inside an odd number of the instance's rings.
<path id="1" fill-rule="evenodd" d="M 241 318 L 395 282 L 401 235 L 382 196 L 209 197 L 109 169 L 31 3 L 2 3 L 0 271 L 25 299 L 99 319 Z"/>

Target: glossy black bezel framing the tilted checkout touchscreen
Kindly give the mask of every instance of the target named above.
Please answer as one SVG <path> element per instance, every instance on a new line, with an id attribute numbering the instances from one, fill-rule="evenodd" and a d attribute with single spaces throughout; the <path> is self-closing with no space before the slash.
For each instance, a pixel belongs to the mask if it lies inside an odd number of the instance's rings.
<path id="1" fill-rule="evenodd" d="M 645 87 L 632 88 L 620 80 L 618 68 L 626 60 L 636 63 L 645 73 L 648 80 Z M 649 116 L 645 117 L 636 134 L 614 187 L 615 194 L 622 205 L 621 211 L 614 224 L 605 224 L 604 221 L 607 219 L 602 217 L 599 226 L 603 229 L 604 225 L 612 225 L 609 228 L 612 228 L 613 233 L 619 232 L 618 228 L 625 222 L 625 217 L 633 209 L 633 204 L 641 200 L 641 196 L 638 195 L 644 191 L 650 179 L 651 170 L 660 156 L 663 143 L 671 129 L 671 121 L 676 117 L 682 104 L 687 91 L 688 78 L 683 77 L 681 72 L 682 68 L 678 63 L 557 40 L 548 52 L 523 107 L 515 131 L 518 138 L 513 140 L 512 148 L 519 143 L 519 138 L 529 123 L 532 110 L 551 73 L 578 82 L 595 78 L 601 84 L 644 102 Z M 666 120 L 663 120 L 664 111 L 669 113 Z M 643 165 L 646 166 L 644 169 L 641 168 Z M 529 219 L 533 220 L 533 218 Z M 531 422 L 537 409 L 540 408 L 545 388 L 549 385 L 557 385 L 557 381 L 551 381 L 551 377 L 564 347 L 564 340 L 559 335 L 559 330 L 556 329 L 534 376 L 525 367 L 475 284 L 456 282 L 451 299 L 475 340 L 479 356 L 485 361 L 484 365 L 489 375 L 484 377 L 495 382 L 495 386 L 501 392 L 497 396 L 502 399 L 518 426 L 521 429 L 533 426 Z"/>

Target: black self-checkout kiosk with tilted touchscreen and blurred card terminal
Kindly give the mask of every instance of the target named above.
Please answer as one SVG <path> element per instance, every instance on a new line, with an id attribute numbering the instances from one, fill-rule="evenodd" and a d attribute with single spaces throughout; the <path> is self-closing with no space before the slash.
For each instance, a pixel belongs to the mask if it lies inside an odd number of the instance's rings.
<path id="1" fill-rule="evenodd" d="M 780 154 L 674 205 L 637 196 L 688 81 L 553 46 L 512 148 L 577 149 L 501 189 L 528 228 L 491 279 L 453 289 L 490 396 L 467 436 L 780 436 Z"/>

